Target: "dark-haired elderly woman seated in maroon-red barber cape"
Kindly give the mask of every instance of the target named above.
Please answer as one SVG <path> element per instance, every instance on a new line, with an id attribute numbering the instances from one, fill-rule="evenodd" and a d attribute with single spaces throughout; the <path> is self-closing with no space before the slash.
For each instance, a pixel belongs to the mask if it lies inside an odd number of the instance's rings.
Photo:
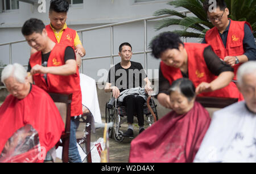
<path id="1" fill-rule="evenodd" d="M 195 96 L 191 80 L 175 80 L 170 87 L 173 111 L 131 142 L 129 162 L 193 162 L 210 124 Z"/>

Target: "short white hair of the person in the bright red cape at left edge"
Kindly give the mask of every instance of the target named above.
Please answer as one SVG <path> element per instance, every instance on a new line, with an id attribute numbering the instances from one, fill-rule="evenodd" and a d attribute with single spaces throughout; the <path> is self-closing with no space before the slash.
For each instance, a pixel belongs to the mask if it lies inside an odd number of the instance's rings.
<path id="1" fill-rule="evenodd" d="M 14 77 L 18 82 L 25 83 L 27 71 L 19 63 L 9 64 L 2 71 L 1 82 L 5 84 L 5 79 L 9 77 Z"/>

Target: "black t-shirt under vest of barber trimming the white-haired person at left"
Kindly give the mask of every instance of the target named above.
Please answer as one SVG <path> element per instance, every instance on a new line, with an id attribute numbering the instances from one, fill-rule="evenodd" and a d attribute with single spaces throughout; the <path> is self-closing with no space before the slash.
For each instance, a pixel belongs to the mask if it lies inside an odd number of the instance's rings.
<path id="1" fill-rule="evenodd" d="M 42 66 L 47 66 L 44 64 L 44 62 L 48 62 L 50 54 L 51 52 L 42 54 Z M 72 59 L 75 60 L 75 52 L 71 46 L 67 46 L 67 48 L 65 49 L 64 61 L 66 62 L 67 60 L 72 60 Z M 28 62 L 27 72 L 30 72 L 30 71 L 31 71 L 31 65 L 30 65 L 30 62 Z"/>

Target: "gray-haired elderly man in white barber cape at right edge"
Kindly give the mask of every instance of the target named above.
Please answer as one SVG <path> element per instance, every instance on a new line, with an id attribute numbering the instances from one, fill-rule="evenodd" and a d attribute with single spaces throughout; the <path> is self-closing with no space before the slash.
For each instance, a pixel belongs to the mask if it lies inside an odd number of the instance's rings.
<path id="1" fill-rule="evenodd" d="M 245 101 L 214 112 L 194 162 L 256 162 L 256 61 L 237 71 Z"/>

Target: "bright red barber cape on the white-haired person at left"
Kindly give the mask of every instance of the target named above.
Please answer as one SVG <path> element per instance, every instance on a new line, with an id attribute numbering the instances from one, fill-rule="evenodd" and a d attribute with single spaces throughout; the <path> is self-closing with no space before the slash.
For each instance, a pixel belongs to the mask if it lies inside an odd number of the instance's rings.
<path id="1" fill-rule="evenodd" d="M 1 162 L 43 162 L 43 156 L 56 145 L 64 131 L 64 122 L 55 103 L 45 91 L 34 85 L 27 97 L 22 100 L 12 95 L 6 97 L 0 107 L 0 125 Z M 8 141 L 11 137 L 15 137 L 18 130 L 23 127 L 26 129 L 27 125 L 36 131 L 39 142 L 29 151 L 6 159 L 3 151 L 6 154 Z"/>

